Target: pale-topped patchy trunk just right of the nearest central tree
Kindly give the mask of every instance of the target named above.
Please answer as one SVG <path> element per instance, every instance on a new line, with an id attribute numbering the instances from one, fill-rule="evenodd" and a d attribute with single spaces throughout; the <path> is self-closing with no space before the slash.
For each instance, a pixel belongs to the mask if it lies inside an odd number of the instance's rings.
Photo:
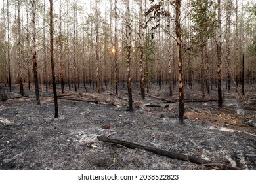
<path id="1" fill-rule="evenodd" d="M 142 18 L 142 0 L 139 1 L 139 37 L 140 37 L 140 91 L 141 98 L 145 99 L 145 84 L 144 84 L 144 73 L 143 73 L 143 18 Z"/>

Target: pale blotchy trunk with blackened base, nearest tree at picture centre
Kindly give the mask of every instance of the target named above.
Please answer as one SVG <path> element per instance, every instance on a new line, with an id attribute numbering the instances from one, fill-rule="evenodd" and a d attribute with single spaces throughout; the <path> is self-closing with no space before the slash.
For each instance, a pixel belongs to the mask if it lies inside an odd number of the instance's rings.
<path id="1" fill-rule="evenodd" d="M 126 0 L 126 51 L 127 51 L 127 59 L 126 59 L 126 75 L 127 75 L 127 89 L 128 89 L 128 104 L 129 104 L 129 112 L 133 112 L 133 95 L 131 91 L 131 20 L 130 20 L 130 8 L 129 8 L 129 0 Z"/>

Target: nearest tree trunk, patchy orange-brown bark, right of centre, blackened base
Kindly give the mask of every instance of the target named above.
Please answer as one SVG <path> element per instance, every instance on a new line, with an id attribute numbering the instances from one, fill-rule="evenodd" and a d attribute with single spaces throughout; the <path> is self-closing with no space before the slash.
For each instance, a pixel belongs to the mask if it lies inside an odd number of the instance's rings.
<path id="1" fill-rule="evenodd" d="M 179 66 L 179 124 L 184 124 L 184 86 L 182 80 L 182 52 L 181 52 L 181 0 L 175 0 L 175 25 L 176 25 L 176 43 L 177 43 L 177 61 Z"/>

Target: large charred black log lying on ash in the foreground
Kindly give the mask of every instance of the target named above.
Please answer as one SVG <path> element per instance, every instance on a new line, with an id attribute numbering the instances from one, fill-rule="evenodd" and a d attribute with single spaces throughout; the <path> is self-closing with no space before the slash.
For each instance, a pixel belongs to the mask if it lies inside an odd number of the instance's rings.
<path id="1" fill-rule="evenodd" d="M 222 163 L 213 163 L 213 162 L 207 161 L 205 159 L 196 158 L 194 156 L 188 156 L 185 154 L 181 154 L 179 152 L 171 152 L 171 151 L 161 150 L 159 148 L 144 146 L 141 144 L 136 144 L 134 142 L 121 141 L 119 139 L 112 139 L 112 138 L 108 138 L 108 137 L 104 137 L 104 136 L 98 136 L 97 139 L 98 139 L 98 141 L 108 142 L 108 143 L 112 143 L 112 144 L 119 144 L 119 145 L 125 146 L 127 148 L 133 148 L 133 149 L 139 148 L 139 149 L 148 150 L 150 152 L 160 154 L 161 156 L 167 156 L 169 158 L 179 159 L 182 161 L 189 161 L 191 163 L 196 163 L 198 165 L 204 165 L 206 167 L 210 167 L 211 169 L 216 169 L 216 170 L 234 170 L 234 169 L 236 169 L 235 167 L 230 167 L 229 165 L 224 165 Z"/>

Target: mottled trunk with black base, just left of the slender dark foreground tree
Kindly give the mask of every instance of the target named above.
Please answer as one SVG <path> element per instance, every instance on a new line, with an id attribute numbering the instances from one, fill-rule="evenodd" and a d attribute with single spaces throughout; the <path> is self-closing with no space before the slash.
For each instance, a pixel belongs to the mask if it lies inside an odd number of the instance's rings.
<path id="1" fill-rule="evenodd" d="M 37 104 L 39 105 L 40 102 L 40 95 L 39 95 L 39 84 L 38 84 L 38 76 L 37 76 L 37 51 L 36 51 L 36 29 L 35 29 L 35 0 L 32 0 L 32 34 L 33 34 L 33 77 L 35 82 L 35 98 Z"/>

